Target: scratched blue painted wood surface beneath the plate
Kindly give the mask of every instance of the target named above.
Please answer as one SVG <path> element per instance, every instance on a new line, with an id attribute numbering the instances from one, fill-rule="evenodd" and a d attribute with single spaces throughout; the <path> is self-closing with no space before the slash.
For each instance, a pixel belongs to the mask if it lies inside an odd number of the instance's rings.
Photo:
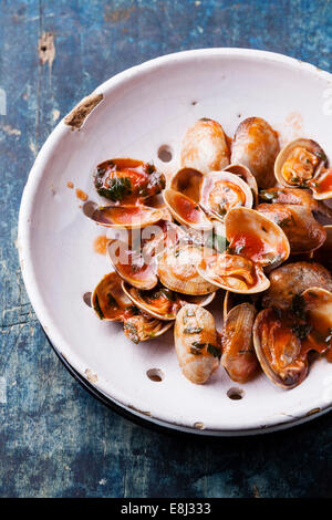
<path id="1" fill-rule="evenodd" d="M 160 435 L 96 402 L 50 349 L 15 247 L 38 150 L 96 85 L 205 46 L 266 49 L 331 71 L 331 1 L 0 0 L 0 496 L 332 497 L 332 414 L 212 440 Z"/>

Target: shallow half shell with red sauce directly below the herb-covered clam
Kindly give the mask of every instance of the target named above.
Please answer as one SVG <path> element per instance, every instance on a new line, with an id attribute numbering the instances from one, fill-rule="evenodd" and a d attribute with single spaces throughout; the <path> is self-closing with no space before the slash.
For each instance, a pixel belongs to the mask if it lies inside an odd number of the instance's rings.
<path id="1" fill-rule="evenodd" d="M 90 218 L 110 228 L 138 229 L 162 220 L 164 211 L 147 206 L 105 206 L 94 209 Z"/>

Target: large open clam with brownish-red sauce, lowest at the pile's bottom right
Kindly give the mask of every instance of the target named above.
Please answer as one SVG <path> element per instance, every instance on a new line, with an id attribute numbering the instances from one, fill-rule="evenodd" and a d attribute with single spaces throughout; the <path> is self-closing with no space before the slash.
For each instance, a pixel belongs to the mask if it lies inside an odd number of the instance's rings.
<path id="1" fill-rule="evenodd" d="M 301 340 L 273 309 L 257 315 L 253 345 L 260 366 L 276 385 L 291 389 L 307 377 L 308 358 L 301 354 Z"/>

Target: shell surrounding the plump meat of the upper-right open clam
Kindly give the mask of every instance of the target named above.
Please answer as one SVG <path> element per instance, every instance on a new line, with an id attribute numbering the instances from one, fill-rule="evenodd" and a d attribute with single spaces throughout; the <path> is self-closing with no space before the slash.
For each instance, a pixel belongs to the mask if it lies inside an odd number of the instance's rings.
<path id="1" fill-rule="evenodd" d="M 288 145 L 286 145 L 278 154 L 278 157 L 274 163 L 274 176 L 278 183 L 286 187 L 295 187 L 295 186 L 303 186 L 303 179 L 299 177 L 298 181 L 289 183 L 284 176 L 282 175 L 283 165 L 289 158 L 292 156 L 293 152 L 297 148 L 305 148 L 305 150 L 310 152 L 318 158 L 318 165 L 314 168 L 314 171 L 310 178 L 314 178 L 322 167 L 326 164 L 326 156 L 324 150 L 320 147 L 318 143 L 312 139 L 304 139 L 299 138 L 294 139 Z M 309 175 L 309 173 L 308 173 Z"/>

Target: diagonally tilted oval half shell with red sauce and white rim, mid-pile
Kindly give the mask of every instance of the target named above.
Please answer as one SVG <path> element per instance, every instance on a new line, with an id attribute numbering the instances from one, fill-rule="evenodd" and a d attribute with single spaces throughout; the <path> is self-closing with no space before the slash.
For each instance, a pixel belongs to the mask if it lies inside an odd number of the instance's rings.
<path id="1" fill-rule="evenodd" d="M 212 229 L 211 221 L 193 199 L 172 188 L 165 189 L 163 195 L 165 204 L 175 220 L 194 229 Z"/>

